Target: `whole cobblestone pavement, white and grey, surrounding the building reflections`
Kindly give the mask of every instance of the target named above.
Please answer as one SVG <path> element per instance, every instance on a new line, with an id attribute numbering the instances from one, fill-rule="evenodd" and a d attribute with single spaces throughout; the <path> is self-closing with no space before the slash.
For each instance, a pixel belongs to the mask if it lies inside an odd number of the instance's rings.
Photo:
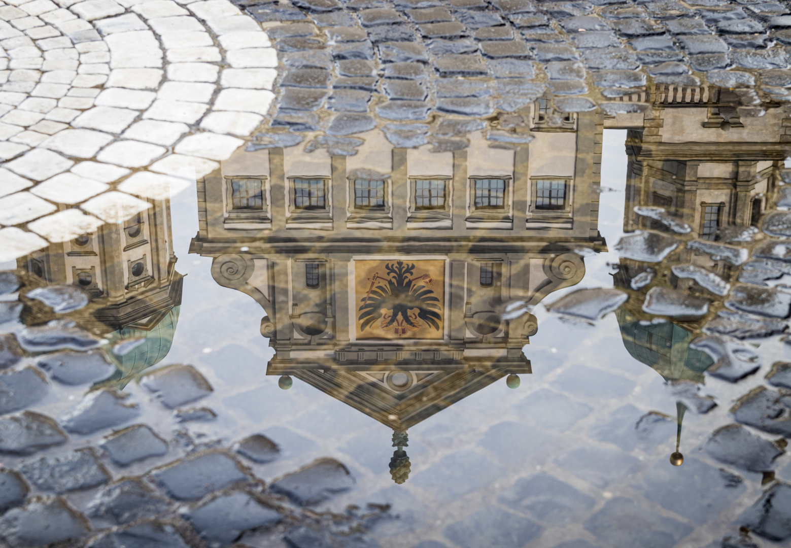
<path id="1" fill-rule="evenodd" d="M 240 146 L 294 146 L 313 131 L 305 145 L 331 154 L 354 153 L 353 135 L 375 127 L 396 146 L 453 150 L 485 127 L 481 117 L 539 97 L 558 112 L 641 111 L 646 84 L 668 93 L 733 88 L 745 115 L 759 114 L 761 100 L 789 99 L 789 13 L 759 0 L 3 0 L 0 261 L 125 221 L 149 208 L 148 198 L 178 203 L 190 179 Z M 443 125 L 445 116 L 456 122 Z M 502 129 L 486 138 L 526 139 Z M 789 236 L 787 215 L 767 217 L 776 222 L 765 232 Z M 755 261 L 766 259 L 757 253 Z M 785 268 L 784 253 L 770 257 L 771 275 Z M 615 317 L 592 329 L 536 312 L 542 338 L 529 350 L 540 367 L 531 381 L 520 391 L 494 385 L 412 429 L 411 478 L 393 486 L 391 433 L 305 385 L 284 392 L 261 380 L 269 349 L 259 308 L 229 297 L 208 263 L 196 262 L 191 318 L 170 365 L 125 394 L 85 395 L 107 376 L 105 359 L 77 366 L 53 357 L 69 347 L 107 350 L 89 332 L 50 326 L 47 336 L 66 331 L 57 349 L 35 330 L 0 335 L 7 546 L 791 542 L 791 463 L 780 438 L 789 436 L 782 390 L 791 385 L 778 384 L 787 370 L 772 368 L 787 348 L 778 337 L 758 339 L 759 350 L 700 342 L 722 362 L 720 374 L 685 400 L 687 458 L 673 468 L 676 399 L 626 353 Z M 599 274 L 587 281 L 611 285 Z M 760 285 L 760 275 L 739 281 Z M 743 308 L 763 314 L 777 298 Z M 10 302 L 0 313 L 18 316 Z M 759 368 L 729 382 L 744 361 Z M 694 414 L 702 400 L 718 405 Z"/>

